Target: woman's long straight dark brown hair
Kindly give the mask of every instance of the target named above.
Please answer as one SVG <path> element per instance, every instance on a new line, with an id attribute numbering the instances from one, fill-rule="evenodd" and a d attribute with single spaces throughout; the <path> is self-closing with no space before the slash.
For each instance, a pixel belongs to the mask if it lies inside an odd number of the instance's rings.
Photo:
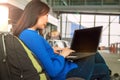
<path id="1" fill-rule="evenodd" d="M 19 36 L 24 29 L 34 26 L 38 17 L 47 14 L 49 10 L 49 6 L 44 2 L 32 0 L 26 5 L 21 18 L 13 28 L 13 34 Z"/>

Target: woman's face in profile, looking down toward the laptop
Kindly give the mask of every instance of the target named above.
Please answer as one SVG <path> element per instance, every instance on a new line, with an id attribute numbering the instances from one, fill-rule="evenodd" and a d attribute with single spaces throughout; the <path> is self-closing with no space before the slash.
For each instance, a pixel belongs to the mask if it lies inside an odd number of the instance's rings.
<path id="1" fill-rule="evenodd" d="M 48 22 L 48 14 L 40 16 L 38 18 L 37 23 L 36 23 L 36 28 L 37 29 L 44 29 L 46 27 L 47 22 Z"/>

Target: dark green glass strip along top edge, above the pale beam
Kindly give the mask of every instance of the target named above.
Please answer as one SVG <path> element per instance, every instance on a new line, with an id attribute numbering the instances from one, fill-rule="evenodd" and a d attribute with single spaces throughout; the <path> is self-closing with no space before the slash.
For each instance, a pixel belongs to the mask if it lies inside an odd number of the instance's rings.
<path id="1" fill-rule="evenodd" d="M 49 1 L 49 0 L 48 0 Z M 51 0 L 52 5 L 119 5 L 119 0 Z"/>

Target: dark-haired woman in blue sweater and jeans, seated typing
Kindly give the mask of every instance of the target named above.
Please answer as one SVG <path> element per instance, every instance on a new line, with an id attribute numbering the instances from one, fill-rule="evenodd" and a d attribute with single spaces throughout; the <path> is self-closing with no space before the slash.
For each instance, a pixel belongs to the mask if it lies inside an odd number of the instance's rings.
<path id="1" fill-rule="evenodd" d="M 96 77 L 96 75 L 94 76 L 96 74 L 95 56 L 76 62 L 68 61 L 65 58 L 71 52 L 74 52 L 73 50 L 65 48 L 60 54 L 56 54 L 58 52 L 53 50 L 48 42 L 38 33 L 47 24 L 49 10 L 50 8 L 39 0 L 29 2 L 17 26 L 13 29 L 13 34 L 18 36 L 37 56 L 51 80 L 65 80 L 70 77 L 81 77 L 85 80 L 90 80 L 92 76 L 93 78 Z M 104 65 L 104 63 L 101 64 Z M 98 73 L 97 75 L 101 74 L 100 72 Z M 107 71 L 104 73 L 106 76 Z"/>

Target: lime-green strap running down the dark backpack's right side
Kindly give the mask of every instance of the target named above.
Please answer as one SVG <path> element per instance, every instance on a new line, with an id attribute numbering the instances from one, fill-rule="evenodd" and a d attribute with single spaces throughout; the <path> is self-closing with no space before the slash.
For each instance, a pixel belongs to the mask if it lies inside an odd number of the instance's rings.
<path id="1" fill-rule="evenodd" d="M 37 70 L 37 72 L 39 73 L 39 76 L 40 76 L 40 80 L 47 80 L 47 77 L 46 77 L 46 74 L 45 72 L 43 71 L 43 68 L 42 66 L 38 63 L 38 61 L 35 59 L 35 57 L 33 56 L 32 52 L 24 45 L 24 43 L 19 39 L 17 38 L 20 43 L 22 44 L 23 48 L 25 49 L 28 57 L 30 58 L 33 66 L 35 67 L 35 69 Z"/>

